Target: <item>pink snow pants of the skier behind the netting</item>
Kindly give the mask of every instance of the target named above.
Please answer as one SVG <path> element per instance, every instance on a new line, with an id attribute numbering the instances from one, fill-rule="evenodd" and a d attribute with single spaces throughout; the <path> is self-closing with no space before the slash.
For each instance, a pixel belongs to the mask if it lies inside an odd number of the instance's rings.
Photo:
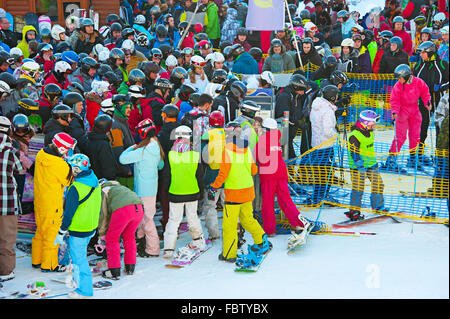
<path id="1" fill-rule="evenodd" d="M 400 152 L 406 141 L 406 135 L 409 139 L 409 149 L 414 149 L 419 144 L 421 124 L 422 115 L 420 112 L 400 112 L 395 120 L 395 136 L 389 148 L 389 153 Z"/>

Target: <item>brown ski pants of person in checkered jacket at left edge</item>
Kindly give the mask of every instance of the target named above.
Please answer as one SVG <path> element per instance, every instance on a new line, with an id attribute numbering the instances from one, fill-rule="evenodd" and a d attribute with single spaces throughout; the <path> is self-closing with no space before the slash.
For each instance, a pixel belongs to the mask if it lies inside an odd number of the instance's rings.
<path id="1" fill-rule="evenodd" d="M 0 216 L 0 275 L 16 268 L 17 215 Z"/>

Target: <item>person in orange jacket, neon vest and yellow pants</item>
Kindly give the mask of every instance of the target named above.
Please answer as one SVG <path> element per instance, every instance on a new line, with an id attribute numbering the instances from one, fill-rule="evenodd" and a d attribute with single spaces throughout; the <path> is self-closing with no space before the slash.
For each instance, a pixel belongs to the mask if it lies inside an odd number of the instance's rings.
<path id="1" fill-rule="evenodd" d="M 257 173 L 258 168 L 248 148 L 249 142 L 241 138 L 241 125 L 237 122 L 229 122 L 225 132 L 226 145 L 219 174 L 209 186 L 208 199 L 214 199 L 217 189 L 224 185 L 223 250 L 219 260 L 234 263 L 238 247 L 238 221 L 255 242 L 249 246 L 249 250 L 262 255 L 271 249 L 271 243 L 261 225 L 253 218 L 252 201 L 255 198 L 255 189 L 252 175 Z"/>

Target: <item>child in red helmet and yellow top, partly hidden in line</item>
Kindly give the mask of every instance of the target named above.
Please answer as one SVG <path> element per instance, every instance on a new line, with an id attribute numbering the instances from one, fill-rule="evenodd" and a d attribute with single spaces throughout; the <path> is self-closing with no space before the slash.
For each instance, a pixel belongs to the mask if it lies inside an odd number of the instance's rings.
<path id="1" fill-rule="evenodd" d="M 205 214 L 205 226 L 208 230 L 209 239 L 220 237 L 219 221 L 217 218 L 217 202 L 225 200 L 223 188 L 219 188 L 212 200 L 208 198 L 208 186 L 219 174 L 222 152 L 225 149 L 225 131 L 223 129 L 225 117 L 220 111 L 213 111 L 209 117 L 209 131 L 202 136 L 202 159 L 208 165 L 204 175 L 205 196 L 203 212 Z"/>

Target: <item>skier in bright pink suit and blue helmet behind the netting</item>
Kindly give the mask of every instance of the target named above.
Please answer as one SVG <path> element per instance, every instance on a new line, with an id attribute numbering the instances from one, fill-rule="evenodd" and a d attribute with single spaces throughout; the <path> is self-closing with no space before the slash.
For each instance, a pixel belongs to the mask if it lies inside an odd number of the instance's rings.
<path id="1" fill-rule="evenodd" d="M 410 159 L 412 162 L 415 162 L 415 152 L 420 141 L 420 126 L 422 123 L 418 101 L 421 98 L 425 108 L 430 111 L 431 95 L 427 84 L 412 75 L 409 65 L 400 64 L 395 68 L 394 75 L 398 78 L 390 98 L 395 130 L 394 140 L 389 148 L 388 158 L 382 168 L 404 173 L 405 170 L 396 163 L 397 154 L 406 140 L 406 132 L 408 131 Z"/>

